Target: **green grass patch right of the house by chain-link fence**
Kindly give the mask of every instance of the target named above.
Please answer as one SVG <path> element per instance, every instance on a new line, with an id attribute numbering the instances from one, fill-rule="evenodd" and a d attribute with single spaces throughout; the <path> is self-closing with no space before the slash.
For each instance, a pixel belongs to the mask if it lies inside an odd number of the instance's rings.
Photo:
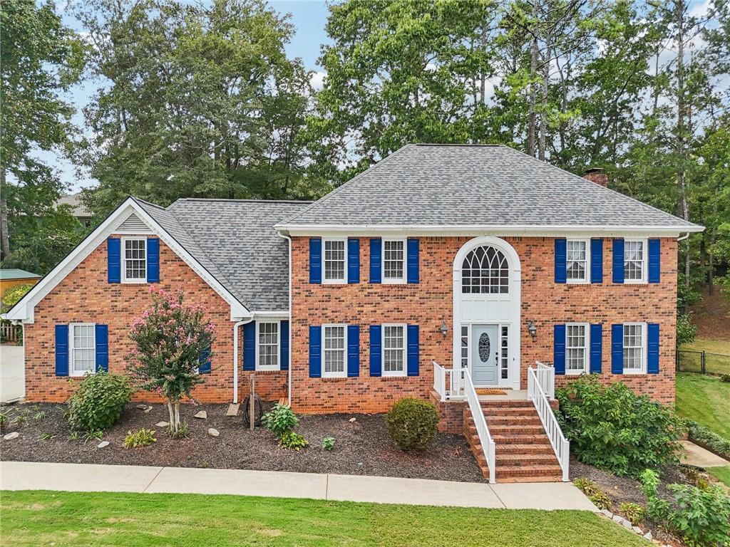
<path id="1" fill-rule="evenodd" d="M 677 373 L 677 414 L 709 427 L 730 439 L 728 401 L 730 384 L 714 376 Z"/>

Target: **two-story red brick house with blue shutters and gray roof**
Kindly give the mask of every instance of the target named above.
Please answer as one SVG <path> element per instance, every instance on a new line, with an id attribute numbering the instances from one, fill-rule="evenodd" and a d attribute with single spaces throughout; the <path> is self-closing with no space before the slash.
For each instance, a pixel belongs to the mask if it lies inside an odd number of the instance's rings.
<path id="1" fill-rule="evenodd" d="M 26 399 L 123 371 L 155 284 L 215 322 L 202 401 L 238 401 L 255 373 L 295 411 L 430 396 L 460 430 L 467 391 L 597 373 L 672 403 L 677 238 L 702 227 L 605 185 L 509 147 L 412 144 L 314 203 L 128 198 L 7 313 Z"/>

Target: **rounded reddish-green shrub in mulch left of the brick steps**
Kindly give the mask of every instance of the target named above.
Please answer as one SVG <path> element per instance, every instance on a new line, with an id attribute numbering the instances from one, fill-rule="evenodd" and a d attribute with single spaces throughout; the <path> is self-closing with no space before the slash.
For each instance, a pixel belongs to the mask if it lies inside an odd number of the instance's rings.
<path id="1" fill-rule="evenodd" d="M 388 435 L 401 450 L 423 450 L 433 441 L 439 424 L 436 407 L 424 400 L 406 397 L 388 411 Z"/>

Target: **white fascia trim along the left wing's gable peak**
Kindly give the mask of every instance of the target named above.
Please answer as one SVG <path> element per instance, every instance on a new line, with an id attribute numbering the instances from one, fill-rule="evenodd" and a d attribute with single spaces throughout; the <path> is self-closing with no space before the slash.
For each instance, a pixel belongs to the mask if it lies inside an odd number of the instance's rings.
<path id="1" fill-rule="evenodd" d="M 124 219 L 130 213 L 136 213 L 147 225 L 155 232 L 164 243 L 170 247 L 183 261 L 190 266 L 201 278 L 220 295 L 223 300 L 231 306 L 231 321 L 240 318 L 251 317 L 250 311 L 240 303 L 234 295 L 231 295 L 223 285 L 218 282 L 210 273 L 203 268 L 200 263 L 193 258 L 180 244 L 175 241 L 172 236 L 167 233 L 147 212 L 145 212 L 133 198 L 127 198 L 112 214 L 107 217 L 104 222 L 96 227 L 93 232 L 84 238 L 84 240 L 66 255 L 53 270 L 51 270 L 43 279 L 41 279 L 28 293 L 10 309 L 5 316 L 10 321 L 22 321 L 24 323 L 34 322 L 34 309 L 37 303 L 45 298 L 67 275 L 77 268 L 91 252 L 99 245 L 103 244 L 106 239 L 114 233 L 119 221 Z"/>

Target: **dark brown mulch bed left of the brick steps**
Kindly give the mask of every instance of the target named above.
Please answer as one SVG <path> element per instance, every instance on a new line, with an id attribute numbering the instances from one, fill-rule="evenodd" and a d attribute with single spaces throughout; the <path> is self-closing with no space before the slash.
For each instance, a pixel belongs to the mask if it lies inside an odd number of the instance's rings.
<path id="1" fill-rule="evenodd" d="M 82 438 L 69 441 L 64 406 L 58 404 L 9 405 L 0 410 L 10 416 L 24 414 L 20 424 L 8 424 L 4 433 L 18 431 L 11 441 L 0 438 L 3 460 L 26 462 L 69 462 L 115 465 L 164 465 L 185 468 L 255 469 L 299 471 L 304 473 L 342 473 L 407 478 L 434 478 L 447 481 L 484 482 L 480 469 L 460 435 L 438 433 L 429 449 L 406 454 L 393 446 L 384 414 L 328 414 L 300 416 L 296 431 L 310 446 L 299 452 L 280 449 L 272 432 L 257 427 L 253 432 L 243 425 L 242 417 L 226 417 L 227 405 L 183 405 L 180 412 L 188 423 L 190 436 L 173 440 L 157 422 L 167 422 L 167 408 L 151 405 L 148 413 L 134 403 L 127 406 L 120 422 L 104 433 L 110 446 L 99 449 L 99 441 L 84 443 Z M 193 414 L 204 410 L 207 419 Z M 42 419 L 34 419 L 38 412 Z M 350 422 L 351 418 L 355 422 Z M 125 449 L 128 430 L 142 427 L 156 430 L 157 442 L 139 449 Z M 208 428 L 220 432 L 218 438 L 207 434 Z M 52 435 L 52 438 L 46 438 Z M 322 438 L 336 439 L 334 451 L 321 447 Z M 45 440 L 43 440 L 45 438 Z"/>

